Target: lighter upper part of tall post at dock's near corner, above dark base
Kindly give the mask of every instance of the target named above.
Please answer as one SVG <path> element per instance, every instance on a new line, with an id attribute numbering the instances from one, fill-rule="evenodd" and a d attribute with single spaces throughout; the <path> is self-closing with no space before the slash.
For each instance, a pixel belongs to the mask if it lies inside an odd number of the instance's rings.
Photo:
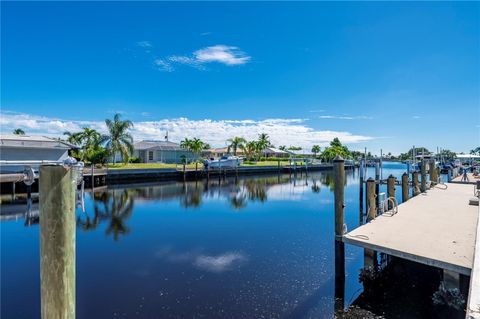
<path id="1" fill-rule="evenodd" d="M 333 160 L 333 175 L 335 178 L 335 239 L 342 240 L 344 223 L 344 183 L 345 183 L 345 160 L 336 156 Z"/>

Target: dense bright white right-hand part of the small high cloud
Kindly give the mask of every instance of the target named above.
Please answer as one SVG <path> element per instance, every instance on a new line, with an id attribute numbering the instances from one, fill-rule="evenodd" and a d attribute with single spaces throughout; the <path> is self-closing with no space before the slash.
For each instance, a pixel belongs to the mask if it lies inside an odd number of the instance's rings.
<path id="1" fill-rule="evenodd" d="M 197 61 L 208 63 L 218 62 L 227 65 L 245 64 L 250 61 L 248 55 L 239 48 L 227 45 L 214 45 L 197 50 L 193 53 Z"/>

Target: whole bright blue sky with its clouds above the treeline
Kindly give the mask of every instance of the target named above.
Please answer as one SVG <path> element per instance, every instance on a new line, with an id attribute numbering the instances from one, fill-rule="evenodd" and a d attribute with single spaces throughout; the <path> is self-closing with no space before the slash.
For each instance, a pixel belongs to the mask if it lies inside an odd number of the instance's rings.
<path id="1" fill-rule="evenodd" d="M 480 4 L 2 2 L 1 130 L 480 144 Z"/>

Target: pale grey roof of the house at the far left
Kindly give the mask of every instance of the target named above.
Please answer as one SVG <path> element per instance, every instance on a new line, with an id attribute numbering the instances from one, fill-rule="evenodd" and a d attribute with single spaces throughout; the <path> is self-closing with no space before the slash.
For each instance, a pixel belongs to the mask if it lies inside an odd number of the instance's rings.
<path id="1" fill-rule="evenodd" d="M 46 149 L 71 149 L 77 146 L 58 139 L 41 135 L 1 134 L 0 146 Z"/>

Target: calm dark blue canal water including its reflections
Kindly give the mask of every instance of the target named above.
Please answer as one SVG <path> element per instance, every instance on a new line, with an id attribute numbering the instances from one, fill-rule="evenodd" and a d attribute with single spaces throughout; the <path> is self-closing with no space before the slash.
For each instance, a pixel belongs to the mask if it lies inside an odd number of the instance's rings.
<path id="1" fill-rule="evenodd" d="M 387 163 L 383 177 L 405 170 Z M 353 229 L 360 222 L 358 175 L 346 176 L 345 223 Z M 332 191 L 327 171 L 87 193 L 86 212 L 77 210 L 77 318 L 332 318 Z M 0 226 L 1 317 L 39 318 L 38 224 L 26 227 L 20 218 Z M 417 305 L 402 306 L 405 294 L 382 302 L 388 292 L 364 293 L 364 250 L 346 245 L 345 252 L 347 306 L 438 317 L 431 301 L 438 270 L 418 270 L 433 281 L 425 289 L 393 275 L 390 287 L 415 292 Z"/>

